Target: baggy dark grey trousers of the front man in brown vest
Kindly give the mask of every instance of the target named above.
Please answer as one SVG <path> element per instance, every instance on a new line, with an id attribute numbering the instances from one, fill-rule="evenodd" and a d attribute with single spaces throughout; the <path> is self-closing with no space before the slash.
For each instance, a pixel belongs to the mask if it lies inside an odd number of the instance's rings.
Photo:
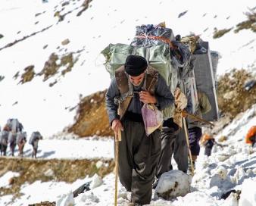
<path id="1" fill-rule="evenodd" d="M 155 170 L 161 154 L 161 132 L 146 136 L 144 124 L 124 120 L 122 141 L 119 142 L 119 178 L 132 201 L 149 204 Z"/>

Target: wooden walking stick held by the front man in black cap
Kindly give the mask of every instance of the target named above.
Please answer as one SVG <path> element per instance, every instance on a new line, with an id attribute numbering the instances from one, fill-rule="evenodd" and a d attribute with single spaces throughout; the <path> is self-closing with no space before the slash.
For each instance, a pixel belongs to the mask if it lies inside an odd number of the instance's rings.
<path id="1" fill-rule="evenodd" d="M 114 179 L 114 206 L 117 206 L 117 179 L 118 179 L 118 156 L 119 156 L 119 141 L 121 141 L 121 130 L 114 134 L 114 161 L 115 161 L 115 179 Z"/>

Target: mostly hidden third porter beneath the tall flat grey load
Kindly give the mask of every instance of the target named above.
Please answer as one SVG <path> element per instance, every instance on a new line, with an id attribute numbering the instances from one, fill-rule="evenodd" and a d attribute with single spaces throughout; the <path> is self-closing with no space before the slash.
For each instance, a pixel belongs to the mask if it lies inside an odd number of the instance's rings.
<path id="1" fill-rule="evenodd" d="M 197 90 L 198 94 L 198 105 L 195 110 L 194 115 L 196 117 L 202 118 L 202 114 L 206 114 L 209 111 L 211 111 L 211 104 L 209 101 L 208 96 L 204 93 L 201 92 L 200 90 Z M 195 167 L 195 161 L 199 155 L 200 152 L 200 145 L 199 141 L 201 139 L 201 122 L 198 120 L 192 119 L 188 117 L 188 130 L 189 130 L 189 148 L 192 154 L 192 164 Z M 191 164 L 189 162 L 189 164 Z M 191 167 L 189 167 L 189 170 Z"/>

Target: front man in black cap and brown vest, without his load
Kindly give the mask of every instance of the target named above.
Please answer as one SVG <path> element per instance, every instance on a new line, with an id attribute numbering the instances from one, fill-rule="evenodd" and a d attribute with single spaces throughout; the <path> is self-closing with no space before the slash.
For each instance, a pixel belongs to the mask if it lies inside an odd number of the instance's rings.
<path id="1" fill-rule="evenodd" d="M 150 204 L 152 183 L 161 154 L 161 132 L 145 133 L 143 104 L 159 110 L 173 105 L 174 98 L 164 78 L 148 67 L 145 58 L 129 55 L 115 71 L 106 93 L 111 129 L 121 130 L 118 164 L 120 183 L 132 192 L 130 205 Z"/>

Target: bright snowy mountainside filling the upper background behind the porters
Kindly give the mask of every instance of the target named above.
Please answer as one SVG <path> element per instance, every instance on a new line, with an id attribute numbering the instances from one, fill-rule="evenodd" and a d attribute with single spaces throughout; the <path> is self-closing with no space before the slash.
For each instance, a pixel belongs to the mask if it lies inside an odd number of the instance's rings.
<path id="1" fill-rule="evenodd" d="M 80 96 L 106 89 L 110 83 L 100 51 L 109 43 L 129 44 L 135 27 L 142 23 L 165 21 L 175 35 L 201 35 L 222 55 L 218 74 L 233 67 L 254 67 L 255 33 L 234 33 L 236 24 L 247 20 L 245 12 L 254 6 L 250 0 L 232 4 L 220 0 L 2 0 L 0 124 L 17 117 L 28 133 L 39 130 L 43 136 L 52 136 L 72 124 L 76 113 L 72 108 Z M 214 28 L 232 30 L 213 39 Z M 58 60 L 50 62 L 59 65 L 59 70 L 45 76 L 45 62 L 53 53 Z M 70 54 L 71 68 L 61 62 Z M 32 65 L 33 80 L 21 84 L 24 69 Z"/>

